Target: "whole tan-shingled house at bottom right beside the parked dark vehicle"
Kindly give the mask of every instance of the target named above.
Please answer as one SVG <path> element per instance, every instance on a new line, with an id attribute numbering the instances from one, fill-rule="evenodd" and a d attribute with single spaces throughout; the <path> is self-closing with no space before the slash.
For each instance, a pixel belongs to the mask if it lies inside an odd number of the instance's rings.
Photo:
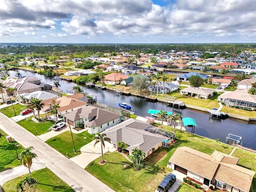
<path id="1" fill-rule="evenodd" d="M 212 155 L 189 147 L 179 147 L 168 167 L 185 174 L 204 186 L 221 190 L 250 192 L 254 171 L 237 165 L 238 158 L 214 151 Z"/>

